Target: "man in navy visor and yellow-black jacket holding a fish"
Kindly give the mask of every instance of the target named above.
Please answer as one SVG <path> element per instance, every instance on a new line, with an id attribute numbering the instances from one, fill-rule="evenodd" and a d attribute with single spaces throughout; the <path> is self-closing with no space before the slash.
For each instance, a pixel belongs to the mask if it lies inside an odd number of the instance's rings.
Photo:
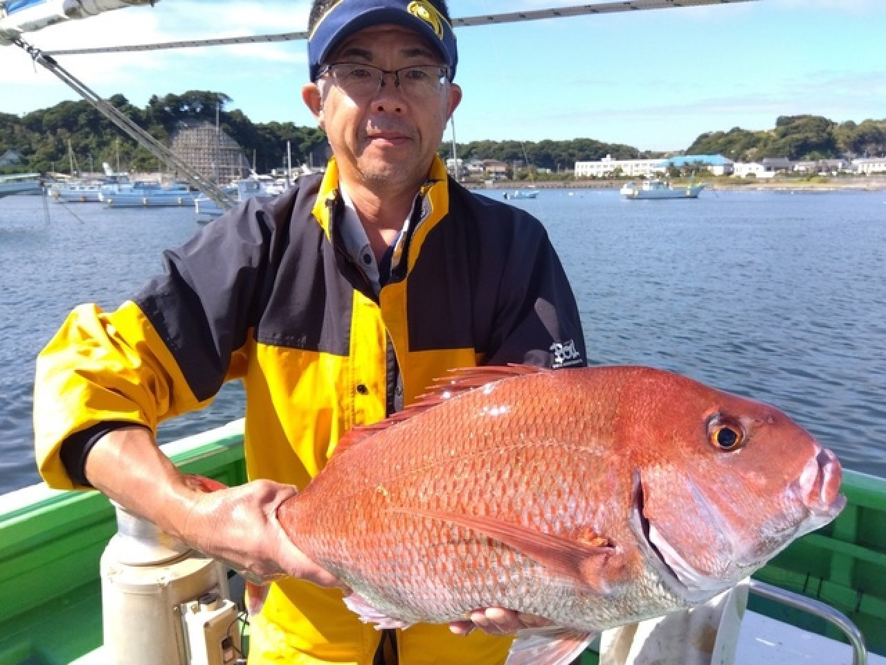
<path id="1" fill-rule="evenodd" d="M 113 314 L 74 310 L 38 359 L 41 473 L 272 581 L 251 663 L 501 662 L 509 638 L 486 632 L 532 617 L 478 608 L 380 644 L 341 591 L 321 588 L 337 581 L 285 536 L 276 507 L 348 429 L 452 368 L 584 364 L 578 311 L 540 223 L 465 191 L 436 155 L 462 97 L 445 3 L 315 2 L 309 29 L 302 97 L 329 137 L 325 175 L 223 215 Z M 251 482 L 203 494 L 154 432 L 229 379 L 245 385 Z"/>

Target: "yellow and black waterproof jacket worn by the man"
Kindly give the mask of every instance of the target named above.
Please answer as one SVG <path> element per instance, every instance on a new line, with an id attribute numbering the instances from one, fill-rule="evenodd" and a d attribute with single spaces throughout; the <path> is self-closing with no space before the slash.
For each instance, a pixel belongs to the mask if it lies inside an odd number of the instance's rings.
<path id="1" fill-rule="evenodd" d="M 168 251 L 165 274 L 115 312 L 74 309 L 37 362 L 43 478 L 80 487 L 88 434 L 156 431 L 243 379 L 249 477 L 303 488 L 346 431 L 447 370 L 584 364 L 571 288 L 531 215 L 467 192 L 436 160 L 376 295 L 342 248 L 341 205 L 333 160 L 325 176 L 250 200 Z M 371 663 L 377 643 L 338 591 L 286 580 L 253 620 L 250 662 Z M 400 662 L 498 661 L 507 644 L 416 626 L 399 639 Z"/>

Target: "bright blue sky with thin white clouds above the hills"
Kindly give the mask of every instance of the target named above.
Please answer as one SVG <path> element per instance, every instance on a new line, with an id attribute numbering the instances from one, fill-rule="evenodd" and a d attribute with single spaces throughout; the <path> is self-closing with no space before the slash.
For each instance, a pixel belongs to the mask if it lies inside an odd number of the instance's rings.
<path id="1" fill-rule="evenodd" d="M 598 0 L 599 1 L 599 0 Z M 454 17 L 581 4 L 449 0 Z M 159 0 L 25 35 L 45 50 L 295 32 L 309 0 Z M 886 118 L 886 0 L 758 0 L 456 28 L 458 143 L 593 138 L 685 150 L 703 132 L 772 129 L 780 115 Z M 305 42 L 59 56 L 98 95 L 220 91 L 253 122 L 311 126 Z M 0 112 L 77 99 L 0 46 Z M 446 139 L 452 137 L 452 127 Z"/>

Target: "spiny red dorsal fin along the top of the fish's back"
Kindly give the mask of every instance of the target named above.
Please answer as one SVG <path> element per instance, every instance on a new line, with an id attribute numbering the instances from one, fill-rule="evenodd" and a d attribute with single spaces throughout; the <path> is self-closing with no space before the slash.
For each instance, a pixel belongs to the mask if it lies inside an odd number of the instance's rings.
<path id="1" fill-rule="evenodd" d="M 460 367 L 450 370 L 449 375 L 432 380 L 428 391 L 418 395 L 416 401 L 409 404 L 403 411 L 393 413 L 388 418 L 379 420 L 372 425 L 357 426 L 349 430 L 338 441 L 333 454 L 338 455 L 373 434 L 408 420 L 448 399 L 468 393 L 475 388 L 514 376 L 551 371 L 547 367 L 536 367 L 531 364 L 481 365 L 479 367 Z"/>

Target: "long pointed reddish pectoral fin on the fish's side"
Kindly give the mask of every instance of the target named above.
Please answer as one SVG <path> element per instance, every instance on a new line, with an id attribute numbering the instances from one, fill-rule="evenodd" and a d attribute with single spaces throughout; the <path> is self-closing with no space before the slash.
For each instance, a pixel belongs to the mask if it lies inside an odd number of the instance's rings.
<path id="1" fill-rule="evenodd" d="M 543 534 L 513 522 L 494 517 L 464 515 L 455 512 L 431 511 L 420 508 L 391 508 L 393 512 L 406 512 L 432 520 L 447 521 L 470 528 L 479 534 L 492 538 L 537 561 L 556 575 L 561 575 L 580 587 L 597 594 L 610 592 L 609 584 L 603 578 L 607 559 L 618 550 L 601 536 L 573 540 L 563 536 Z"/>

